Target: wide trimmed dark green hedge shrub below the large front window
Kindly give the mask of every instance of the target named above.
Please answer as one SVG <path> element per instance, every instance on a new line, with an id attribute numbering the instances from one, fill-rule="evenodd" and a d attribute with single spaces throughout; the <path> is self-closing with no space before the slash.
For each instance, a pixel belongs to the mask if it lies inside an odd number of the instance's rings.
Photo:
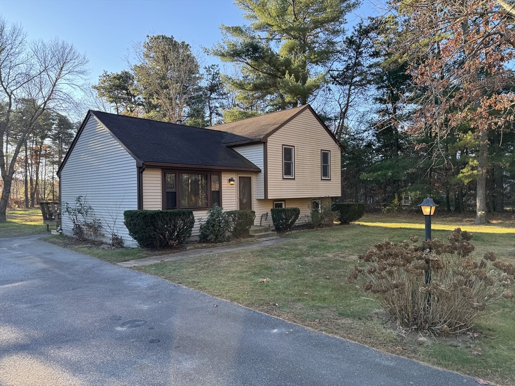
<path id="1" fill-rule="evenodd" d="M 187 241 L 195 217 L 192 210 L 125 210 L 129 235 L 143 248 L 164 248 Z"/>

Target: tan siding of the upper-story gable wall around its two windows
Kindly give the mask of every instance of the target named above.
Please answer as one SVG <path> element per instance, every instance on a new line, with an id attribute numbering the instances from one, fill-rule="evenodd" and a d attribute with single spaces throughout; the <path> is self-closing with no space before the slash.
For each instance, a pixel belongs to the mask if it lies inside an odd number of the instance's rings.
<path id="1" fill-rule="evenodd" d="M 283 180 L 282 145 L 295 146 L 295 180 Z M 320 179 L 320 150 L 331 151 L 331 181 Z M 268 137 L 268 198 L 341 195 L 341 153 L 332 137 L 306 110 Z"/>

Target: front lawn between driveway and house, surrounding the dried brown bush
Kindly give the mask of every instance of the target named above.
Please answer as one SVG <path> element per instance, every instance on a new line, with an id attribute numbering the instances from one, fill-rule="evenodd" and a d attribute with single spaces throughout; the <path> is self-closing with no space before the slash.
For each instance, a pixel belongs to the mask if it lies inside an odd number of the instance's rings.
<path id="1" fill-rule="evenodd" d="M 433 238 L 445 240 L 450 230 L 460 226 L 474 234 L 474 256 L 480 257 L 491 250 L 504 261 L 515 260 L 513 225 L 474 226 L 460 219 L 450 222 L 435 221 Z M 451 347 L 445 344 L 445 339 L 431 337 L 427 337 L 428 345 L 418 346 L 417 337 L 404 338 L 384 323 L 373 295 L 356 288 L 355 283 L 347 283 L 347 275 L 358 262 L 357 255 L 376 241 L 385 238 L 401 241 L 409 235 L 422 238 L 423 219 L 414 216 L 413 222 L 406 217 L 391 221 L 386 217 L 367 216 L 359 223 L 294 232 L 286 236 L 294 241 L 269 247 L 135 269 L 385 352 L 501 384 L 515 384 L 512 303 L 504 301 L 494 306 L 492 311 L 496 313 L 476 324 L 481 332 L 479 338 L 462 337 L 464 343 L 460 347 Z M 271 282 L 260 283 L 260 279 Z M 482 355 L 472 354 L 474 351 Z"/>

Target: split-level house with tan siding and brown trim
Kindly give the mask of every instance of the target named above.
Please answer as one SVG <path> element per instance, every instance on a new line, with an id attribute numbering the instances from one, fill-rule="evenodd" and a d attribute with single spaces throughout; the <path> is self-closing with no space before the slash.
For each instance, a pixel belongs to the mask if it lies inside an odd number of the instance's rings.
<path id="1" fill-rule="evenodd" d="M 272 207 L 302 217 L 340 196 L 340 165 L 341 145 L 309 105 L 205 129 L 90 110 L 57 174 L 61 202 L 82 196 L 105 234 L 135 246 L 124 210 L 193 209 L 192 237 L 215 203 L 272 225 Z M 63 233 L 72 227 L 63 214 Z"/>

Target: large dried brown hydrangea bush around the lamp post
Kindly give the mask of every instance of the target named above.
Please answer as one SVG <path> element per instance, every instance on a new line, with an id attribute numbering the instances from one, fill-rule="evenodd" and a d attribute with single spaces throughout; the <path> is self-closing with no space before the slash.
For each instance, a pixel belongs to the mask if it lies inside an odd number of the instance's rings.
<path id="1" fill-rule="evenodd" d="M 349 282 L 364 278 L 363 289 L 377 294 L 401 327 L 465 331 L 488 305 L 501 297 L 513 299 L 509 287 L 515 284 L 515 267 L 495 261 L 492 252 L 479 263 L 469 258 L 474 250 L 471 238 L 472 234 L 457 228 L 449 243 L 428 240 L 423 248 L 413 236 L 413 244 L 378 242 L 375 250 L 358 256 L 367 268 L 355 266 Z M 488 268 L 489 261 L 497 270 Z"/>

